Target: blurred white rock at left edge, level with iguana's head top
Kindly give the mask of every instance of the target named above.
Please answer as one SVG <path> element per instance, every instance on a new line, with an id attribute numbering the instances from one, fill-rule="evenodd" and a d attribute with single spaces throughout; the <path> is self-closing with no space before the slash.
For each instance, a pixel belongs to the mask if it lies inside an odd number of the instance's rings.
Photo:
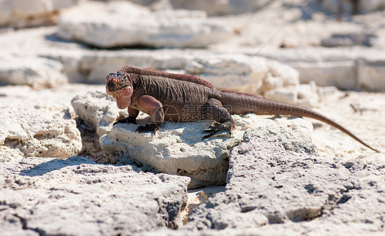
<path id="1" fill-rule="evenodd" d="M 68 82 L 62 63 L 39 57 L 0 57 L 0 84 L 55 88 Z"/>

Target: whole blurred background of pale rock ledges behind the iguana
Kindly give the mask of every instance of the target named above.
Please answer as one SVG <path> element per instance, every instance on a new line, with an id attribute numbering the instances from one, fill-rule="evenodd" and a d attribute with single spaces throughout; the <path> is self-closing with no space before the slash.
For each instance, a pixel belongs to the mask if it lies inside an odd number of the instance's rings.
<path id="1" fill-rule="evenodd" d="M 1 84 L 103 84 L 110 71 L 134 64 L 190 73 L 220 88 L 262 95 L 311 81 L 350 90 L 385 89 L 383 1 L 0 4 Z M 277 62 L 257 62 L 260 56 L 284 62 L 299 74 L 289 67 L 277 69 Z M 271 76 L 263 74 L 263 67 L 274 63 Z M 260 78 L 254 72 L 262 72 Z M 283 84 L 275 80 L 282 73 L 291 77 Z"/>

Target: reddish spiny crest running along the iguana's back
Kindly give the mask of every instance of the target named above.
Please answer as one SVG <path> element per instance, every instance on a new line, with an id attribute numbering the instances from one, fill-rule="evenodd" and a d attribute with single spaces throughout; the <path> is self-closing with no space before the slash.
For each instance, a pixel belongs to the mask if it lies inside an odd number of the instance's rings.
<path id="1" fill-rule="evenodd" d="M 203 86 L 209 87 L 209 88 L 214 88 L 214 86 L 201 78 L 197 78 L 192 75 L 183 75 L 183 74 L 177 74 L 177 73 L 169 73 L 166 71 L 160 71 L 158 69 L 152 69 L 152 68 L 138 68 L 134 67 L 132 65 L 127 65 L 122 67 L 121 71 L 126 72 L 126 73 L 136 73 L 138 75 L 152 75 L 152 76 L 161 76 L 165 78 L 170 78 L 174 80 L 184 80 L 188 82 L 192 82 L 195 84 L 201 84 Z M 215 88 L 214 88 L 215 89 Z"/>

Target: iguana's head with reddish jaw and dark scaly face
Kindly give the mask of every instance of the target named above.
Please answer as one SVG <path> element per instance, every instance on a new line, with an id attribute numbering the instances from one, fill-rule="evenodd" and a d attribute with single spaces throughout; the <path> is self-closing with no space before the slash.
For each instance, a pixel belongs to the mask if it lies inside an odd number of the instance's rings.
<path id="1" fill-rule="evenodd" d="M 110 73 L 106 79 L 105 91 L 107 94 L 114 97 L 119 109 L 127 108 L 131 104 L 133 92 L 131 80 L 129 80 L 127 73 L 121 71 Z"/>

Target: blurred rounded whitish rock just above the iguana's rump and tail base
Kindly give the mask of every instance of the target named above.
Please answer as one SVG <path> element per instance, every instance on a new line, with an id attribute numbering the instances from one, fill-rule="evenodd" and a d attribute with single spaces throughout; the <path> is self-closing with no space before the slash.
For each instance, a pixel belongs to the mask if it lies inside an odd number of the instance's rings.
<path id="1" fill-rule="evenodd" d="M 251 58 L 243 54 L 197 57 L 186 66 L 186 71 L 208 80 L 218 89 L 254 95 L 273 88 L 299 84 L 299 74 L 293 67 L 275 60 Z"/>

